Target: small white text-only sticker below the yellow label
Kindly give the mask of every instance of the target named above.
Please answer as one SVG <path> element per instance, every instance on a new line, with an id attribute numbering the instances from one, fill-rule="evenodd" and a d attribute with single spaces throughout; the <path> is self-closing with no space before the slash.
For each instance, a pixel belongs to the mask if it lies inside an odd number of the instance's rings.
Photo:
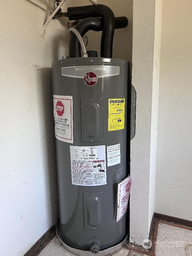
<path id="1" fill-rule="evenodd" d="M 107 166 L 113 166 L 121 163 L 120 143 L 107 146 Z"/>

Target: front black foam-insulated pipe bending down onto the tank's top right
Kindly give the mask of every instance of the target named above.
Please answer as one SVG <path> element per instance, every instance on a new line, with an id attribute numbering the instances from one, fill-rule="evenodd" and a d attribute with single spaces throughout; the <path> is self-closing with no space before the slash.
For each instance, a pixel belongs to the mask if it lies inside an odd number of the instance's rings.
<path id="1" fill-rule="evenodd" d="M 101 57 L 112 58 L 115 16 L 108 6 L 87 5 L 69 7 L 67 9 L 67 17 L 69 17 L 69 20 L 83 20 L 90 17 L 101 17 L 104 24 L 101 36 Z"/>

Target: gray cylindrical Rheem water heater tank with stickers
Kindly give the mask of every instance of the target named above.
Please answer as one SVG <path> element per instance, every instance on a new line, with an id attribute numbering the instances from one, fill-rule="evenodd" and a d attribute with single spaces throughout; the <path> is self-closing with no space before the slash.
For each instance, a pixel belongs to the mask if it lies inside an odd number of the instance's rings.
<path id="1" fill-rule="evenodd" d="M 117 187 L 129 174 L 129 70 L 113 58 L 52 63 L 57 234 L 77 255 L 108 255 L 128 236 L 127 214 L 117 221 Z"/>

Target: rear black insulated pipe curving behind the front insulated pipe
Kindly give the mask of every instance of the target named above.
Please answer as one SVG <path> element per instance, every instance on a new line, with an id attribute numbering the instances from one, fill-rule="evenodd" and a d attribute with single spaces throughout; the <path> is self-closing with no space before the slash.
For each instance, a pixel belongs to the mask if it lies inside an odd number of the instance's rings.
<path id="1" fill-rule="evenodd" d="M 116 17 L 115 18 L 115 29 L 122 29 L 128 25 L 127 17 Z M 83 37 L 89 30 L 102 31 L 103 23 L 102 18 L 86 18 L 81 20 L 76 26 L 76 30 Z M 69 44 L 69 57 L 76 58 L 81 57 L 81 45 L 78 38 L 74 33 L 71 34 Z M 101 56 L 102 57 L 102 56 Z"/>

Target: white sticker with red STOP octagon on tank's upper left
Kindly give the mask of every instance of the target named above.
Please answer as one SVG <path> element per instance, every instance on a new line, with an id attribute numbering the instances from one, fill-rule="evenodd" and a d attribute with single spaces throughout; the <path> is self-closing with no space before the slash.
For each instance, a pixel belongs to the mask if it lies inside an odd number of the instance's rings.
<path id="1" fill-rule="evenodd" d="M 73 97 L 53 95 L 55 138 L 73 143 Z"/>

